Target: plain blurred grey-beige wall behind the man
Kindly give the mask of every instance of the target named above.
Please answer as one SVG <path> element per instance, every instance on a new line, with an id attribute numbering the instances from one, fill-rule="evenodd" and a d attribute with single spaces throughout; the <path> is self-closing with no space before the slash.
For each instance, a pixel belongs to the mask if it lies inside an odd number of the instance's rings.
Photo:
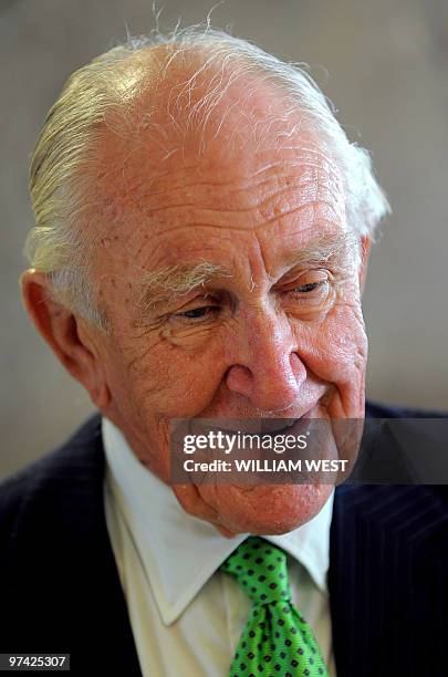
<path id="1" fill-rule="evenodd" d="M 166 0 L 160 27 L 213 2 Z M 448 3 L 228 0 L 217 28 L 311 64 L 352 140 L 371 149 L 394 215 L 372 257 L 364 310 L 371 398 L 448 409 Z M 155 25 L 146 0 L 2 0 L 0 476 L 62 441 L 92 406 L 38 336 L 18 278 L 32 212 L 28 158 L 76 67 Z M 326 69 L 326 70 L 325 70 Z"/>

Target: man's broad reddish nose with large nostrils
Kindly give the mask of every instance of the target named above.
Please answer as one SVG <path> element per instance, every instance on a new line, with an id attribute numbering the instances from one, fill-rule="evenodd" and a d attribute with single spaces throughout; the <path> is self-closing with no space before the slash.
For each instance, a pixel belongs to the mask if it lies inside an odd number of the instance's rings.
<path id="1" fill-rule="evenodd" d="M 281 413 L 296 403 L 306 367 L 296 353 L 291 325 L 284 315 L 258 313 L 248 317 L 239 336 L 227 386 L 264 412 Z"/>

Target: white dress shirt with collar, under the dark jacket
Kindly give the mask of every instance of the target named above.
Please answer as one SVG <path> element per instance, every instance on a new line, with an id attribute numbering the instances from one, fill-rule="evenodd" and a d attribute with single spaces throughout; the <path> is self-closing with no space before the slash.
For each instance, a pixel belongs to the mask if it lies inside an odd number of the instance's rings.
<path id="1" fill-rule="evenodd" d="M 217 571 L 247 538 L 222 537 L 188 514 L 102 420 L 107 529 L 144 677 L 228 677 L 252 602 Z M 333 493 L 310 522 L 281 537 L 295 606 L 335 676 L 326 572 Z"/>

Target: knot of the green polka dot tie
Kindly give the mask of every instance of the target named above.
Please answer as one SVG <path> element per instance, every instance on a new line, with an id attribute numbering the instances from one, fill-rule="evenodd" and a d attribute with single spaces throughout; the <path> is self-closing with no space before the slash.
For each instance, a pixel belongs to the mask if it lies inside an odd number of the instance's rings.
<path id="1" fill-rule="evenodd" d="M 291 598 L 286 554 L 260 537 L 249 537 L 221 565 L 260 604 Z"/>

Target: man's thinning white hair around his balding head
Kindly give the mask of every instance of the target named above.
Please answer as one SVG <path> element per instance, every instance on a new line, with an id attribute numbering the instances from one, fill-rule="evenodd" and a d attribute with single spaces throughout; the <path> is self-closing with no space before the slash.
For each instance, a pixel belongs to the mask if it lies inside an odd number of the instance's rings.
<path id="1" fill-rule="evenodd" d="M 373 239 L 378 222 L 389 212 L 368 152 L 350 143 L 331 102 L 303 67 L 280 61 L 254 44 L 208 24 L 175 30 L 167 35 L 155 32 L 149 37 L 129 38 L 125 44 L 113 48 L 71 75 L 46 116 L 30 168 L 35 226 L 28 235 L 25 256 L 33 268 L 48 273 L 58 300 L 98 327 L 105 329 L 106 322 L 95 303 L 91 283 L 88 252 L 95 229 L 82 218 L 88 191 L 84 169 L 94 159 L 95 140 L 108 113 L 119 111 L 123 127 L 135 113 L 133 103 L 142 92 L 142 79 L 133 77 L 129 66 L 137 63 L 146 69 L 150 87 L 157 84 L 155 77 L 160 82 L 168 77 L 170 69 L 171 72 L 177 69 L 177 73 L 187 62 L 196 64 L 196 70 L 186 82 L 176 83 L 174 125 L 180 100 L 187 101 L 188 108 L 191 92 L 202 76 L 209 75 L 208 86 L 187 111 L 187 131 L 201 128 L 204 132 L 213 107 L 236 80 L 265 82 L 282 94 L 285 106 L 282 119 L 293 112 L 300 113 L 330 150 L 342 176 L 347 226 L 352 231 Z M 216 134 L 219 129 L 220 125 Z M 204 138 L 202 134 L 202 143 Z"/>

